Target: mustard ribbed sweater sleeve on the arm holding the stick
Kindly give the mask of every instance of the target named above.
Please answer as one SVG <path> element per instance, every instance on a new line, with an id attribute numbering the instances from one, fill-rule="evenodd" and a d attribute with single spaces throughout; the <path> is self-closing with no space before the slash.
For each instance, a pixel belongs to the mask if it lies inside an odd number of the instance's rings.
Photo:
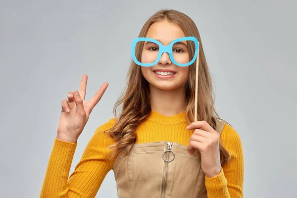
<path id="1" fill-rule="evenodd" d="M 234 128 L 226 124 L 221 134 L 224 148 L 231 154 L 230 163 L 212 178 L 205 176 L 208 198 L 243 198 L 244 155 L 241 139 Z"/>

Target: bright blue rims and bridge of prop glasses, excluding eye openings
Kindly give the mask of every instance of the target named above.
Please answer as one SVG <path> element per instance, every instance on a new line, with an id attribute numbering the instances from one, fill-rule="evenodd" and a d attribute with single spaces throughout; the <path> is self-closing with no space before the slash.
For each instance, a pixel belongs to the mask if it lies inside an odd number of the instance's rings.
<path id="1" fill-rule="evenodd" d="M 135 46 L 136 46 L 136 43 L 139 42 L 139 41 L 149 41 L 149 42 L 153 42 L 153 43 L 155 43 L 155 44 L 157 44 L 159 46 L 158 57 L 157 57 L 157 59 L 154 62 L 152 62 L 152 63 L 142 63 L 142 62 L 139 62 L 137 60 L 137 58 L 135 56 Z M 180 64 L 180 63 L 177 63 L 174 60 L 174 58 L 173 58 L 172 47 L 173 47 L 173 45 L 175 43 L 180 42 L 180 41 L 193 41 L 195 43 L 195 54 L 194 54 L 194 57 L 188 63 Z M 198 54 L 198 49 L 199 49 L 199 43 L 198 43 L 198 40 L 196 39 L 196 37 L 182 37 L 182 38 L 178 38 L 178 39 L 173 40 L 168 46 L 163 46 L 160 42 L 158 42 L 155 39 L 146 38 L 146 37 L 139 37 L 139 38 L 136 38 L 136 39 L 134 39 L 132 41 L 131 54 L 132 54 L 132 59 L 133 59 L 133 61 L 136 64 L 138 64 L 140 66 L 150 67 L 150 66 L 155 65 L 157 62 L 159 62 L 159 60 L 161 59 L 162 54 L 164 52 L 167 52 L 169 54 L 169 57 L 170 57 L 171 62 L 173 62 L 177 66 L 185 67 L 185 66 L 189 66 L 189 65 L 193 64 L 193 62 L 196 60 L 197 54 Z"/>

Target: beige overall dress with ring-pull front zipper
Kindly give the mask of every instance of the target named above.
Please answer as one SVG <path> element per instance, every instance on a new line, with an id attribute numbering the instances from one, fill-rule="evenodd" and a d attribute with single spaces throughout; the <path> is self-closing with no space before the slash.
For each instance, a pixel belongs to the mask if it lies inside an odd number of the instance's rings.
<path id="1" fill-rule="evenodd" d="M 221 134 L 226 121 L 216 119 Z M 175 142 L 134 144 L 113 165 L 118 198 L 207 198 L 200 152 Z"/>

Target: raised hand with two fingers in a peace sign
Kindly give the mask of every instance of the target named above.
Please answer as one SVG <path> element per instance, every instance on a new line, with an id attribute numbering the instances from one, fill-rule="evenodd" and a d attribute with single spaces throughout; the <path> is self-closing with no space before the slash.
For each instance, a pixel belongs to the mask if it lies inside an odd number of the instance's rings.
<path id="1" fill-rule="evenodd" d="M 108 83 L 101 85 L 97 93 L 89 101 L 85 101 L 88 76 L 83 75 L 79 91 L 68 92 L 68 100 L 62 100 L 62 109 L 58 123 L 57 139 L 76 143 L 86 126 L 89 116 L 103 96 Z"/>

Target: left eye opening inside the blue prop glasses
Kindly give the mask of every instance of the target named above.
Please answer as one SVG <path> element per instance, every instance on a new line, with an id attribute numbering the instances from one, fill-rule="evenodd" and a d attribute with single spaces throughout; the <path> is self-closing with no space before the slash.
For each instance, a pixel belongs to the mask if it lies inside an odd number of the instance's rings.
<path id="1" fill-rule="evenodd" d="M 148 41 L 138 41 L 135 45 L 136 59 L 141 63 L 152 63 L 158 57 L 159 45 Z M 141 54 L 138 54 L 141 52 Z"/>

